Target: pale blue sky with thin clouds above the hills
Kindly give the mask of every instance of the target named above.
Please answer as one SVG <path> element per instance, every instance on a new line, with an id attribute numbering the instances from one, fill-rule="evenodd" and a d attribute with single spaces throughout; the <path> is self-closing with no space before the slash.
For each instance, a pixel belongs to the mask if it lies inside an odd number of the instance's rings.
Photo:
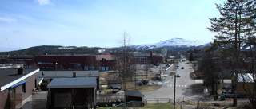
<path id="1" fill-rule="evenodd" d="M 38 45 L 118 47 L 172 38 L 213 41 L 226 0 L 0 0 L 0 52 Z"/>

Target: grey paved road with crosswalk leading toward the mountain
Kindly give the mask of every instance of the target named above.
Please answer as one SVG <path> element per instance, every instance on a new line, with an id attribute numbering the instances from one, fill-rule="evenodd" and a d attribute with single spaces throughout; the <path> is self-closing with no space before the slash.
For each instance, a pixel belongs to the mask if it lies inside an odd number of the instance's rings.
<path id="1" fill-rule="evenodd" d="M 181 77 L 176 78 L 176 96 L 175 99 L 179 99 L 180 97 L 186 96 L 187 98 L 194 98 L 195 96 L 192 95 L 192 90 L 190 88 L 191 84 L 194 84 L 194 80 L 190 79 L 190 72 L 194 72 L 194 69 L 190 67 L 189 64 L 186 64 L 186 62 L 179 63 L 179 68 L 177 71 L 175 71 L 177 74 L 180 74 Z M 175 66 L 173 66 L 175 67 Z M 184 67 L 184 69 L 181 69 Z M 176 67 L 175 67 L 176 68 Z M 172 71 L 172 68 L 170 68 L 168 71 L 164 72 L 164 74 L 168 74 Z M 170 98 L 174 99 L 174 76 L 168 76 L 165 80 L 165 85 L 162 86 L 162 88 L 159 88 L 157 91 L 150 91 L 145 92 L 143 95 L 145 95 L 145 99 L 164 99 L 164 98 Z M 161 102 L 161 101 L 159 101 Z M 166 102 L 166 99 L 162 102 Z M 148 103 L 150 103 L 150 100 L 148 100 Z M 152 103 L 155 103 L 152 101 Z"/>

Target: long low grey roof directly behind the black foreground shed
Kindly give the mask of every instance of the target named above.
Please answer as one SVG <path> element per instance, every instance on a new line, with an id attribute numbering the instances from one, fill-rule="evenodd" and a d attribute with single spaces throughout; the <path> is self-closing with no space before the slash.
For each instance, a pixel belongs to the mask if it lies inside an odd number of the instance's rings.
<path id="1" fill-rule="evenodd" d="M 99 77 L 99 71 L 40 71 L 38 78 L 60 78 L 60 77 L 73 77 L 73 72 L 76 72 L 77 77 Z"/>

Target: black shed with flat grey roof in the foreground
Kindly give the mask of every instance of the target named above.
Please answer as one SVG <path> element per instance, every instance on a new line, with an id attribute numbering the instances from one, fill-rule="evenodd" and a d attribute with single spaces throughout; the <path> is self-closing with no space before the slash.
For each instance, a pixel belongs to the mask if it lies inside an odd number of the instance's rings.
<path id="1" fill-rule="evenodd" d="M 54 78 L 47 85 L 50 91 L 50 107 L 95 108 L 96 87 L 95 77 Z"/>

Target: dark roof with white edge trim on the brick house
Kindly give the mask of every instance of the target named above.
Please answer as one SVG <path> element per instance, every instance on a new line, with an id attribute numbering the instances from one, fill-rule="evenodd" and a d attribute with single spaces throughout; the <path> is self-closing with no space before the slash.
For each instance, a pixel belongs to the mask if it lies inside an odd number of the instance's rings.
<path id="1" fill-rule="evenodd" d="M 24 74 L 18 75 L 18 68 L 0 69 L 0 91 L 26 79 L 39 72 L 39 69 L 23 69 Z"/>

